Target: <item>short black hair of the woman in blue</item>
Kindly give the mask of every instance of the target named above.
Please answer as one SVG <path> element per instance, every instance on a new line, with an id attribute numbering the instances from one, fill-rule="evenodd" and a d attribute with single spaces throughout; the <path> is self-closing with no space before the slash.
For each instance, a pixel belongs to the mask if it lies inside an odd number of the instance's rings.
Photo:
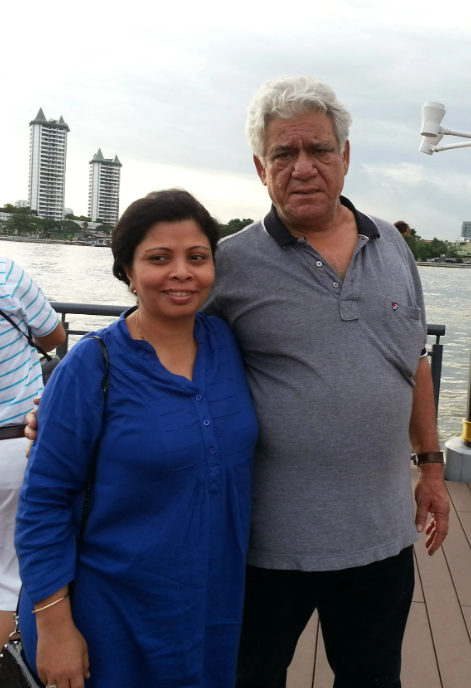
<path id="1" fill-rule="evenodd" d="M 113 275 L 129 286 L 126 269 L 132 266 L 134 251 L 152 225 L 184 220 L 196 222 L 208 238 L 214 256 L 220 238 L 219 225 L 206 208 L 184 189 L 152 191 L 131 203 L 113 230 Z"/>

